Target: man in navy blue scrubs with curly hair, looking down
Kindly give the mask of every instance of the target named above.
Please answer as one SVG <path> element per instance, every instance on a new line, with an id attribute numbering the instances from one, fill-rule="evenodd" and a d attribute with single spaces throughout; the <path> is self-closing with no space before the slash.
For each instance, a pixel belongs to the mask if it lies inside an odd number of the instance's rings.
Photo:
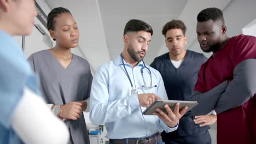
<path id="1" fill-rule="evenodd" d="M 197 81 L 201 65 L 207 58 L 197 52 L 184 50 L 187 44 L 186 27 L 180 20 L 167 22 L 162 29 L 169 52 L 156 57 L 150 65 L 160 72 L 169 100 L 189 100 Z M 165 143 L 211 143 L 208 125 L 216 122 L 216 115 L 194 116 L 191 111 L 179 121 L 179 127 L 172 133 L 163 131 Z"/>

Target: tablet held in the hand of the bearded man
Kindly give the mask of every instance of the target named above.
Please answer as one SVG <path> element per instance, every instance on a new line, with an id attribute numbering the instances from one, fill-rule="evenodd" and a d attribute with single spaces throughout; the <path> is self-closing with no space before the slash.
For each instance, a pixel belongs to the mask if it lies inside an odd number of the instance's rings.
<path id="1" fill-rule="evenodd" d="M 181 110 L 183 107 L 188 106 L 188 109 L 186 112 L 191 110 L 194 106 L 196 106 L 198 103 L 197 101 L 184 101 L 184 100 L 155 100 L 149 107 L 143 111 L 143 115 L 153 115 L 153 112 L 157 112 L 155 109 L 160 108 L 165 113 L 165 105 L 168 105 L 171 107 L 172 111 L 175 109 L 175 105 L 179 103 L 179 110 Z M 186 113 L 185 112 L 185 113 Z"/>

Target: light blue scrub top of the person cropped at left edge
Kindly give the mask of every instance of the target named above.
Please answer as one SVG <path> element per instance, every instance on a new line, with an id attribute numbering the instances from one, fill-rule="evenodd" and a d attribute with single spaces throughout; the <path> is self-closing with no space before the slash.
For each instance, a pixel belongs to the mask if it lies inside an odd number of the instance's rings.
<path id="1" fill-rule="evenodd" d="M 14 39 L 0 30 L 0 143 L 21 143 L 11 122 L 24 88 L 40 93 L 38 81 Z M 24 113 L 26 116 L 26 112 Z"/>

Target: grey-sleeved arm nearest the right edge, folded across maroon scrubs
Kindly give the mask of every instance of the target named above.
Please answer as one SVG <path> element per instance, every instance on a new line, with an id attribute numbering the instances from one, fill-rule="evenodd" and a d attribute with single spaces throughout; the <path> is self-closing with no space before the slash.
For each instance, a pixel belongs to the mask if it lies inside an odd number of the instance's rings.
<path id="1" fill-rule="evenodd" d="M 215 107 L 217 113 L 240 106 L 253 97 L 256 93 L 255 72 L 255 58 L 246 59 L 236 66 L 233 80 L 219 97 Z"/>

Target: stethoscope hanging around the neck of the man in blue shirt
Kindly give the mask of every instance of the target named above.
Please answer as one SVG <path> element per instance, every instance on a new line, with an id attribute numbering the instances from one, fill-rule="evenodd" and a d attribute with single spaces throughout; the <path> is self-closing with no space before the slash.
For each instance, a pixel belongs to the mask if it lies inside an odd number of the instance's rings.
<path id="1" fill-rule="evenodd" d="M 123 66 L 124 66 L 124 69 L 125 69 L 125 73 L 126 73 L 128 79 L 129 79 L 130 84 L 131 84 L 131 87 L 132 87 L 131 94 L 132 94 L 132 95 L 133 95 L 133 94 L 138 94 L 138 91 L 137 91 L 137 89 L 136 89 L 135 87 L 133 87 L 132 82 L 131 82 L 131 78 L 130 78 L 130 76 L 129 76 L 129 74 L 127 73 L 127 70 L 126 70 L 126 68 L 125 68 L 124 58 L 123 58 L 123 56 L 122 56 L 122 53 L 120 54 L 120 56 L 121 56 L 121 59 L 122 59 L 122 62 L 123 62 Z M 152 87 L 152 74 L 151 74 L 151 71 L 150 71 L 149 68 L 146 67 L 146 64 L 144 63 L 144 61 L 142 61 L 142 62 L 143 62 L 143 66 L 144 66 L 144 67 L 141 68 L 141 76 L 142 76 L 142 80 L 143 80 L 143 82 L 144 82 L 144 85 L 142 85 L 142 87 L 143 87 L 144 89 L 150 89 L 150 88 L 153 88 L 153 87 L 157 87 L 156 85 Z M 145 81 L 145 79 L 144 79 L 144 75 L 143 75 L 143 70 L 144 70 L 144 69 L 146 69 L 146 70 L 149 72 L 149 76 L 150 76 L 150 85 L 149 85 L 149 86 L 147 85 L 147 83 L 146 83 L 146 81 Z"/>

